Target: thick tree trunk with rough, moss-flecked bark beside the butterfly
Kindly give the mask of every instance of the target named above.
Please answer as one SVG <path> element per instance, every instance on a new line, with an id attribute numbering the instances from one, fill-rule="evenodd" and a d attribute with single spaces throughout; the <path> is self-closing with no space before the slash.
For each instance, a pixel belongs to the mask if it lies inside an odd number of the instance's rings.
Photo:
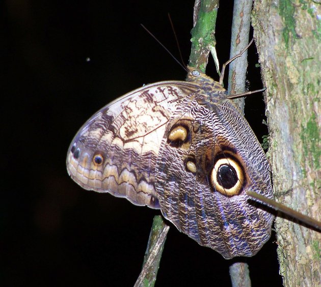
<path id="1" fill-rule="evenodd" d="M 321 220 L 321 5 L 256 1 L 254 36 L 266 87 L 269 157 L 278 202 Z M 320 233 L 278 217 L 285 286 L 321 286 Z"/>

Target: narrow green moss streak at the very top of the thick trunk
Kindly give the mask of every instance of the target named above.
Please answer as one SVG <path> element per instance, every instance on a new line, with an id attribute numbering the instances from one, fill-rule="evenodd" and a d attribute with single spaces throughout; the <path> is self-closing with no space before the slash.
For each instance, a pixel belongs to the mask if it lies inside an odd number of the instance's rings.
<path id="1" fill-rule="evenodd" d="M 279 5 L 280 15 L 283 19 L 283 39 L 285 42 L 286 49 L 289 47 L 289 40 L 292 35 L 292 38 L 297 38 L 296 33 L 296 20 L 294 17 L 295 14 L 295 6 L 291 2 L 291 0 L 283 0 L 280 1 Z"/>

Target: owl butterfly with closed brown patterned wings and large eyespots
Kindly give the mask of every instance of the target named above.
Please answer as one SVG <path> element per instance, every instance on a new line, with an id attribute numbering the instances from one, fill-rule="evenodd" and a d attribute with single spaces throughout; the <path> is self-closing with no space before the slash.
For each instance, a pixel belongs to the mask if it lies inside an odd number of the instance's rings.
<path id="1" fill-rule="evenodd" d="M 247 194 L 273 198 L 269 162 L 227 91 L 196 68 L 96 112 L 72 140 L 67 170 L 87 190 L 161 209 L 225 259 L 252 256 L 271 236 L 274 215 Z"/>

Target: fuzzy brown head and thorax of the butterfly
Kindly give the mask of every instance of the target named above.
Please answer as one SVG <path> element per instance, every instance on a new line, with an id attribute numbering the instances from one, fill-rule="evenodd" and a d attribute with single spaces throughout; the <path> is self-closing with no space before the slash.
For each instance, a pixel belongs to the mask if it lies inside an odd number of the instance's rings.
<path id="1" fill-rule="evenodd" d="M 188 70 L 186 81 L 199 85 L 196 91 L 197 95 L 201 95 L 201 97 L 196 97 L 199 104 L 222 104 L 227 99 L 227 91 L 219 82 L 196 68 L 188 67 Z"/>

